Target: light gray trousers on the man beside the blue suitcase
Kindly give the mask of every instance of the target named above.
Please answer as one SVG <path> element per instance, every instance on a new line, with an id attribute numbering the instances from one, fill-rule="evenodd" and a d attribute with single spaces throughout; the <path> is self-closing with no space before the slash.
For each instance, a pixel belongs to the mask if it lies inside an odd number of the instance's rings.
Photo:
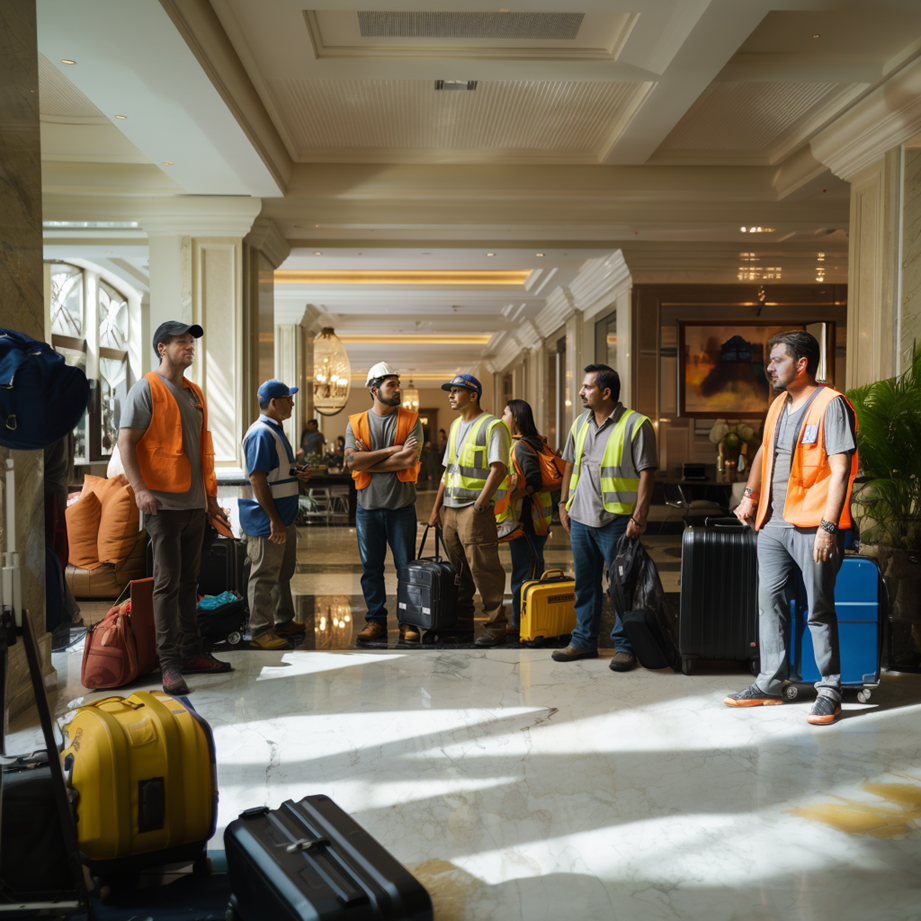
<path id="1" fill-rule="evenodd" d="M 844 533 L 838 533 L 834 554 L 824 563 L 812 561 L 815 528 L 772 528 L 758 532 L 758 611 L 761 673 L 755 684 L 765 694 L 779 694 L 790 673 L 790 600 L 792 580 L 802 573 L 809 605 L 816 682 L 820 697 L 841 700 L 841 662 L 835 579 L 844 556 Z"/>

